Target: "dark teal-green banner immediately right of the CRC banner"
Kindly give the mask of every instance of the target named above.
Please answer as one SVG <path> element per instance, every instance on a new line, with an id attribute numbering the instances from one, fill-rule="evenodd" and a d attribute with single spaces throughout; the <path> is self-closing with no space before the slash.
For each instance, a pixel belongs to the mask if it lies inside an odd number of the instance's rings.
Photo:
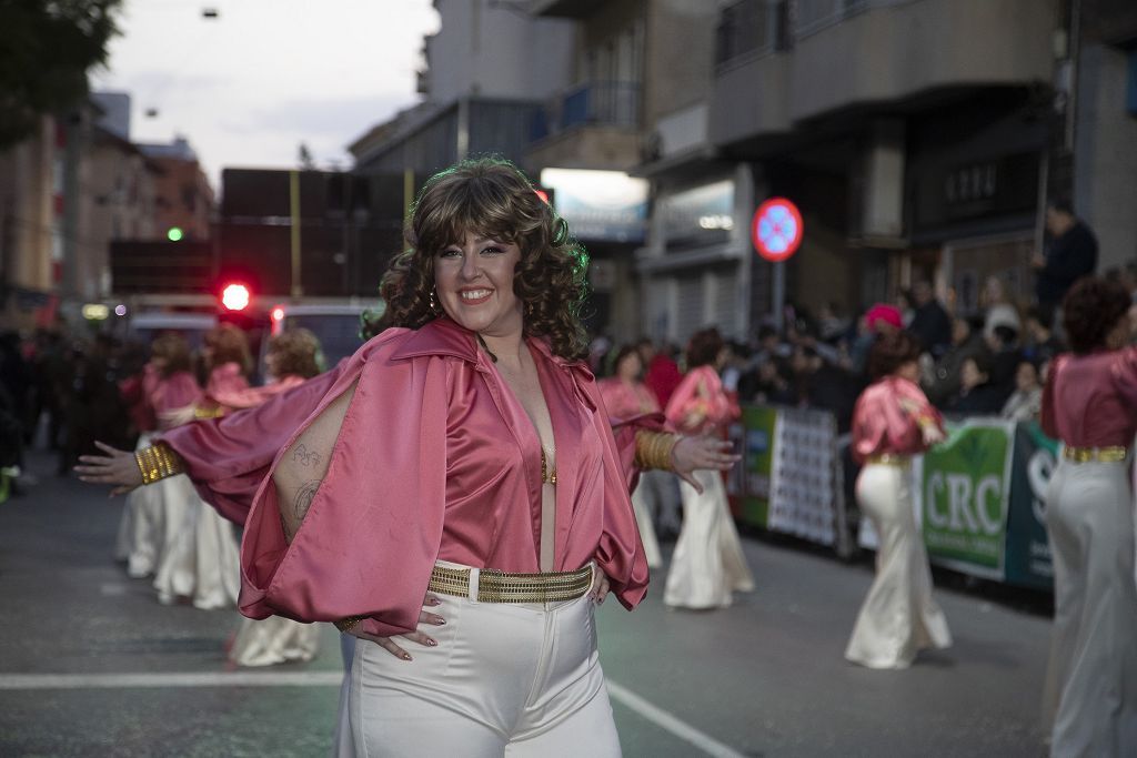
<path id="1" fill-rule="evenodd" d="M 1006 541 L 1006 581 L 1048 590 L 1054 585 L 1046 533 L 1046 488 L 1057 465 L 1059 443 L 1043 434 L 1038 422 L 1014 432 L 1014 473 Z"/>

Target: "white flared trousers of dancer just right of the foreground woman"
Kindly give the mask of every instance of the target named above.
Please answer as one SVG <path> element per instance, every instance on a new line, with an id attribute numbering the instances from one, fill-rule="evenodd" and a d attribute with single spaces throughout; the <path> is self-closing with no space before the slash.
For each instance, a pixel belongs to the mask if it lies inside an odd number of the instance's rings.
<path id="1" fill-rule="evenodd" d="M 722 475 L 698 470 L 695 477 L 703 494 L 687 482 L 680 484 L 683 527 L 671 557 L 663 601 L 674 608 L 721 608 L 731 603 L 733 592 L 752 591 L 754 576 L 742 555 Z"/>

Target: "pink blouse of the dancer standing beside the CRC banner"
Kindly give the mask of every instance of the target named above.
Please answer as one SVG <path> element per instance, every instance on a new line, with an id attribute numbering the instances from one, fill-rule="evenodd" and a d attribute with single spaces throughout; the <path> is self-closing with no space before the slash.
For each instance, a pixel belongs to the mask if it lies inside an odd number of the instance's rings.
<path id="1" fill-rule="evenodd" d="M 944 419 L 920 388 L 899 376 L 886 376 L 869 385 L 853 409 L 853 459 L 863 464 L 871 456 L 913 456 L 928 449 L 920 420 Z"/>

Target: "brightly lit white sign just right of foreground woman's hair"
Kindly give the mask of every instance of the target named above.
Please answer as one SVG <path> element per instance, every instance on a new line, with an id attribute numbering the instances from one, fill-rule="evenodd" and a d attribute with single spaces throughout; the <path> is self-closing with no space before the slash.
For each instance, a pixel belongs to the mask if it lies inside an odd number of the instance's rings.
<path id="1" fill-rule="evenodd" d="M 623 172 L 546 168 L 541 185 L 554 191 L 557 213 L 583 242 L 642 242 L 647 228 L 647 180 Z"/>

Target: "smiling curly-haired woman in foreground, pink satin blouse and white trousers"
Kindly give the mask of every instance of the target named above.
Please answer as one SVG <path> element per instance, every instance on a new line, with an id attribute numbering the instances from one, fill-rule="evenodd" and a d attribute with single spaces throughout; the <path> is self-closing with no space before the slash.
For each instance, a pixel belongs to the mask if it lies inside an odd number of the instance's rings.
<path id="1" fill-rule="evenodd" d="M 592 609 L 609 588 L 633 608 L 648 572 L 579 359 L 587 257 L 490 160 L 433 176 L 406 239 L 390 328 L 254 500 L 241 609 L 368 642 L 343 707 L 357 752 L 619 755 Z"/>

